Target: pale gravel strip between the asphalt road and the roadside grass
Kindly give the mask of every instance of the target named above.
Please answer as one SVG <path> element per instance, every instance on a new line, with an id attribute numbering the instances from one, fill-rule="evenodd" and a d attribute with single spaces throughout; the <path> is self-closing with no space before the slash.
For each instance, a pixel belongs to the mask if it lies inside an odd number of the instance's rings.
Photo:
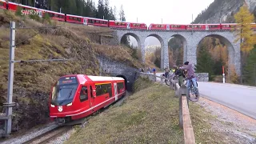
<path id="1" fill-rule="evenodd" d="M 232 139 L 235 143 L 256 144 L 255 119 L 206 98 L 201 97 L 197 103 L 218 119 L 210 122 L 211 130 L 204 132 L 222 132 L 227 139 Z"/>

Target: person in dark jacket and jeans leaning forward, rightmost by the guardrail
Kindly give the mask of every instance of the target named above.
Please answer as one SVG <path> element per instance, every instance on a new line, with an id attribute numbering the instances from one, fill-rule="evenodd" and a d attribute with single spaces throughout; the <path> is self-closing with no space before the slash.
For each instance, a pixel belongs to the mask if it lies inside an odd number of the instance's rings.
<path id="1" fill-rule="evenodd" d="M 198 98 L 199 91 L 197 86 L 197 80 L 194 74 L 194 68 L 192 64 L 189 64 L 190 62 L 184 62 L 184 66 L 180 67 L 181 70 L 187 70 L 187 80 L 186 80 L 186 87 L 189 89 L 190 86 L 190 80 L 193 82 L 193 86 L 196 89 L 195 95 Z"/>

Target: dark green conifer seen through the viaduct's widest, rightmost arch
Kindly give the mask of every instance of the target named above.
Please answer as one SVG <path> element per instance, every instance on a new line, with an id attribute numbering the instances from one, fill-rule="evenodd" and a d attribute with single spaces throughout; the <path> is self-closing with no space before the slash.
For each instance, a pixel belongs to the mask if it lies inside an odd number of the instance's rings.
<path id="1" fill-rule="evenodd" d="M 214 74 L 213 66 L 214 61 L 211 58 L 210 52 L 206 49 L 206 46 L 202 46 L 202 48 L 198 50 L 196 71 L 198 73 L 209 73 L 211 80 L 211 76 Z"/>

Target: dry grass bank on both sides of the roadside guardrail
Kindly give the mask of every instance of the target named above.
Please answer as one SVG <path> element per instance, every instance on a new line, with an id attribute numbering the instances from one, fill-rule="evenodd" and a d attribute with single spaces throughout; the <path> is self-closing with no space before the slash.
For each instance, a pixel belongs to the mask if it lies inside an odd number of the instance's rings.
<path id="1" fill-rule="evenodd" d="M 134 91 L 122 106 L 90 118 L 66 143 L 184 143 L 174 91 L 143 78 Z M 190 103 L 190 117 L 197 143 L 226 143 L 222 133 L 202 133 L 217 120 L 196 103 Z"/>

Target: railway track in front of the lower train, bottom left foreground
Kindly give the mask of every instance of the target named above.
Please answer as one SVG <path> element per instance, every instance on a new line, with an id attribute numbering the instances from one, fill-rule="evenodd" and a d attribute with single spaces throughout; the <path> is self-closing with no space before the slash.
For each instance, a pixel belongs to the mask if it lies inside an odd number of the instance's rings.
<path id="1" fill-rule="evenodd" d="M 65 133 L 68 130 L 71 130 L 73 126 L 58 126 L 54 130 L 50 130 L 46 132 L 45 134 L 39 135 L 36 138 L 33 138 L 25 144 L 30 143 L 30 144 L 45 144 L 50 142 L 50 140 L 53 140 L 54 138 L 58 138 L 61 134 Z"/>

